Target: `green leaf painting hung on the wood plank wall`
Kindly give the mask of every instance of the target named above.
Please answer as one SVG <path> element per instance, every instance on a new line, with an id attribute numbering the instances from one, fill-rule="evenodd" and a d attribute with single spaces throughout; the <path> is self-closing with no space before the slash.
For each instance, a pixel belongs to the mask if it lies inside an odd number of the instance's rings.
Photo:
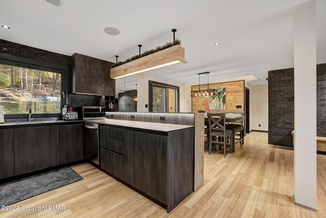
<path id="1" fill-rule="evenodd" d="M 226 88 L 216 88 L 216 91 L 217 95 L 205 97 L 205 110 L 226 110 Z"/>

